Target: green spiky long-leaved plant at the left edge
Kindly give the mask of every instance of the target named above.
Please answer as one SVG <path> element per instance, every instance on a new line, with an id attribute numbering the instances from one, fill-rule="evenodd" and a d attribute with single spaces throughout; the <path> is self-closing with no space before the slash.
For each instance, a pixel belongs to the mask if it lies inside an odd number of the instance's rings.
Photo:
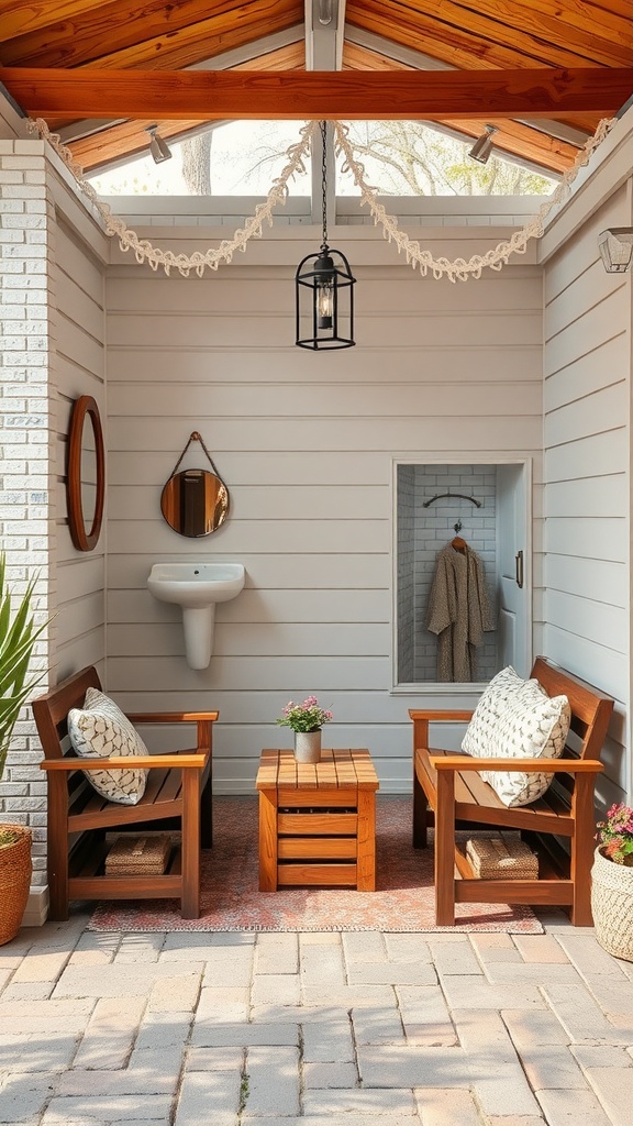
<path id="1" fill-rule="evenodd" d="M 11 592 L 6 581 L 7 558 L 0 553 L 0 780 L 5 772 L 14 727 L 32 689 L 44 673 L 28 678 L 28 665 L 35 642 L 46 623 L 36 626 L 32 614 L 35 587 L 33 579 L 17 610 L 11 613 Z M 16 834 L 7 825 L 0 828 L 0 848 L 12 844 Z"/>

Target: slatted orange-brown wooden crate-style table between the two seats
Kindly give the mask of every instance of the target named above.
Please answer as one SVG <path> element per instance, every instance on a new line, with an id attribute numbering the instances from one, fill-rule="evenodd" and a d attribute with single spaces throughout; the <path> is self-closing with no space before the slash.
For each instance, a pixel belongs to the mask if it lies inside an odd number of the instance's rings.
<path id="1" fill-rule="evenodd" d="M 376 790 L 369 752 L 324 750 L 318 763 L 265 750 L 259 790 L 259 890 L 376 887 Z"/>

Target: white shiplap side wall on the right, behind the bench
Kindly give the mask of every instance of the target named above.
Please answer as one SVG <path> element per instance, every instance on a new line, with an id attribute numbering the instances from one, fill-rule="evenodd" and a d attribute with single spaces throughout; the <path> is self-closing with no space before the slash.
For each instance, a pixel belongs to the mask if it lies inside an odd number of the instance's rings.
<path id="1" fill-rule="evenodd" d="M 545 266 L 544 651 L 616 698 L 601 804 L 631 797 L 631 279 L 598 233 L 631 224 L 626 186 Z M 570 658 L 571 654 L 571 658 Z"/>

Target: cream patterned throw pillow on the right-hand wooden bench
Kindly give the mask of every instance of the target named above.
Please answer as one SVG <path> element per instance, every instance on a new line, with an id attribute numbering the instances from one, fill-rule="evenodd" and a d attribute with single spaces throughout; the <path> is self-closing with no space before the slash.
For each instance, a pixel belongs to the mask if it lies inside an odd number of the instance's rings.
<path id="1" fill-rule="evenodd" d="M 537 680 L 523 680 L 508 665 L 484 690 L 462 750 L 482 759 L 558 759 L 565 745 L 570 718 L 567 696 L 547 696 Z M 480 774 L 508 807 L 536 802 L 553 777 L 503 770 Z"/>

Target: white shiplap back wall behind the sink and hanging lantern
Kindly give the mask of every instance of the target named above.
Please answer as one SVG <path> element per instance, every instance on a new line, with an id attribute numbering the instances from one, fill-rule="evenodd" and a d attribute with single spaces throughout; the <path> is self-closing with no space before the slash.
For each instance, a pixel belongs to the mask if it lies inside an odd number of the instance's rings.
<path id="1" fill-rule="evenodd" d="M 274 724 L 282 706 L 314 691 L 333 709 L 333 745 L 369 747 L 383 788 L 404 790 L 407 708 L 420 697 L 390 695 L 393 459 L 538 463 L 541 275 L 521 262 L 460 285 L 425 279 L 355 230 L 358 346 L 313 355 L 293 346 L 305 239 L 274 233 L 252 265 L 249 250 L 204 279 L 124 257 L 108 272 L 108 687 L 130 709 L 219 707 L 219 792 L 252 789 L 261 747 L 291 744 Z M 465 257 L 482 245 L 476 232 L 451 239 Z M 213 241 L 186 232 L 189 252 Z M 199 540 L 159 508 L 193 430 L 232 502 Z M 248 575 L 217 607 L 202 672 L 185 662 L 177 609 L 145 587 L 152 563 L 196 557 Z"/>

